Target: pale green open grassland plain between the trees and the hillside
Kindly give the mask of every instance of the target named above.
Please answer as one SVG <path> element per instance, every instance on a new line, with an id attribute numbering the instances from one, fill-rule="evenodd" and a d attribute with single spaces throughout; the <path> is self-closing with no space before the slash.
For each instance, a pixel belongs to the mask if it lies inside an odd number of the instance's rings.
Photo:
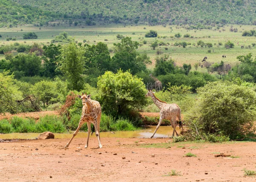
<path id="1" fill-rule="evenodd" d="M 66 31 L 68 35 L 73 36 L 76 41 L 83 42 L 86 40 L 88 44 L 96 44 L 98 42 L 104 42 L 108 44 L 108 48 L 113 48 L 113 43 L 120 42 L 116 35 L 121 34 L 123 36 L 132 37 L 132 40 L 138 41 L 141 46 L 138 48 L 140 53 L 147 53 L 150 59 L 153 61 L 157 56 L 157 50 L 163 51 L 163 54 L 169 54 L 177 65 L 183 65 L 183 63 L 200 63 L 204 56 L 207 56 L 207 61 L 211 63 L 220 63 L 221 60 L 224 63 L 234 65 L 237 62 L 236 57 L 239 55 L 246 55 L 248 53 L 254 53 L 256 47 L 252 46 L 252 43 L 256 43 L 256 37 L 242 37 L 241 34 L 245 30 L 253 30 L 256 26 L 239 26 L 234 25 L 233 28 L 237 28 L 238 32 L 230 32 L 231 25 L 218 29 L 202 29 L 202 30 L 186 30 L 182 27 L 176 26 L 123 26 L 121 24 L 108 25 L 108 26 L 69 26 L 68 24 L 62 24 L 60 26 L 44 26 L 39 29 L 32 25 L 18 26 L 14 28 L 0 28 L 0 45 L 12 44 L 15 42 L 26 44 L 50 44 L 51 40 L 59 33 Z M 22 30 L 22 31 L 21 31 Z M 146 38 L 145 34 L 149 30 L 157 31 L 157 34 L 166 38 Z M 223 31 L 225 30 L 225 31 Z M 23 40 L 23 34 L 27 32 L 35 32 L 38 35 L 38 39 Z M 180 33 L 182 37 L 176 38 L 175 34 Z M 193 38 L 184 38 L 184 34 L 189 34 Z M 16 41 L 7 41 L 6 37 L 17 37 Z M 173 37 L 173 38 L 171 38 Z M 143 44 L 143 40 L 147 43 Z M 153 50 L 150 45 L 154 40 L 163 41 L 169 43 L 166 46 L 159 46 L 156 50 Z M 213 47 L 201 47 L 197 45 L 198 40 L 204 41 L 204 43 L 212 43 Z M 230 40 L 235 44 L 235 48 L 226 49 L 224 44 Z M 191 43 L 186 48 L 173 46 L 176 42 Z M 218 46 L 218 43 L 222 43 L 222 46 Z M 241 45 L 244 48 L 241 48 Z M 250 46 L 250 48 L 249 48 Z M 166 50 L 168 48 L 168 50 Z M 210 53 L 209 53 L 210 51 Z M 112 53 L 113 55 L 113 53 Z M 226 55 L 226 58 L 222 58 L 222 55 Z M 3 54 L 0 55 L 0 59 L 3 58 Z M 153 66 L 148 66 L 153 68 Z M 194 68 L 193 68 L 194 69 Z M 206 71 L 206 69 L 201 69 Z"/>

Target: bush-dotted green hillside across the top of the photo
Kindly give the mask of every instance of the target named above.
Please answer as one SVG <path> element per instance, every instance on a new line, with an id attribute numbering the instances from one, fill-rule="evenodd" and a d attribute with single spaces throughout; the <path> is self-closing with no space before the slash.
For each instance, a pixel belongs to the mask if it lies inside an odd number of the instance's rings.
<path id="1" fill-rule="evenodd" d="M 14 13 L 5 10 L 4 15 L 29 19 L 28 9 L 39 14 L 32 21 L 68 20 L 79 24 L 93 25 L 94 22 L 138 23 L 151 25 L 171 24 L 190 28 L 232 24 L 256 25 L 255 0 L 2 0 Z M 20 9 L 22 7 L 24 11 Z M 33 7 L 33 8 L 31 8 Z M 40 15 L 41 14 L 41 15 Z M 33 13 L 31 14 L 34 15 Z M 1 19 L 3 19 L 3 15 Z M 24 16 L 24 18 L 19 18 Z M 44 18 L 42 18 L 44 16 Z M 43 23 L 43 22 L 41 22 Z"/>

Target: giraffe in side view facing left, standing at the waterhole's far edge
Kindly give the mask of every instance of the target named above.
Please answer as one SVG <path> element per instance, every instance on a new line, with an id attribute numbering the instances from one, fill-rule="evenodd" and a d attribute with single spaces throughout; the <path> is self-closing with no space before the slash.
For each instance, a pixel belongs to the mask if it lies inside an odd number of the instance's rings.
<path id="1" fill-rule="evenodd" d="M 154 92 L 151 90 L 148 91 L 148 93 L 145 95 L 145 97 L 151 97 L 155 105 L 157 105 L 158 108 L 160 108 L 160 119 L 157 125 L 157 128 L 155 129 L 154 133 L 152 134 L 152 137 L 154 137 L 154 134 L 157 132 L 158 128 L 161 125 L 161 122 L 163 119 L 169 119 L 173 128 L 172 137 L 174 137 L 174 134 L 176 133 L 176 136 L 179 136 L 176 131 L 176 117 L 179 119 L 179 125 L 183 130 L 182 122 L 181 122 L 181 113 L 180 113 L 180 107 L 177 104 L 167 104 L 166 102 L 163 102 L 159 100 L 155 95 Z"/>

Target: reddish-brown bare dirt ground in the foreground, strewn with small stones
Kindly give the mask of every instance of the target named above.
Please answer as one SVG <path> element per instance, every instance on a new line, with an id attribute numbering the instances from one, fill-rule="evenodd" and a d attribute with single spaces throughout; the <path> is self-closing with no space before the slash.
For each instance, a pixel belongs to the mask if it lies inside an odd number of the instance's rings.
<path id="1" fill-rule="evenodd" d="M 1 138 L 1 135 L 0 135 Z M 169 138 L 0 140 L 3 182 L 256 182 L 255 142 L 173 143 Z M 186 157 L 187 153 L 196 156 Z M 154 154 L 154 157 L 152 156 Z M 217 154 L 230 157 L 215 157 Z M 177 175 L 172 176 L 172 170 Z"/>

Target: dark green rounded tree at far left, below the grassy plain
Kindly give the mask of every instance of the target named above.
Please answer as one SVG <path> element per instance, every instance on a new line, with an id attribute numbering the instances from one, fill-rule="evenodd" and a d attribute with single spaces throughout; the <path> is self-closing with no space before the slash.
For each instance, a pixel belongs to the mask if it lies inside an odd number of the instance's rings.
<path id="1" fill-rule="evenodd" d="M 35 53 L 20 53 L 11 60 L 11 64 L 12 71 L 20 71 L 26 77 L 39 75 L 41 71 L 41 58 Z"/>

